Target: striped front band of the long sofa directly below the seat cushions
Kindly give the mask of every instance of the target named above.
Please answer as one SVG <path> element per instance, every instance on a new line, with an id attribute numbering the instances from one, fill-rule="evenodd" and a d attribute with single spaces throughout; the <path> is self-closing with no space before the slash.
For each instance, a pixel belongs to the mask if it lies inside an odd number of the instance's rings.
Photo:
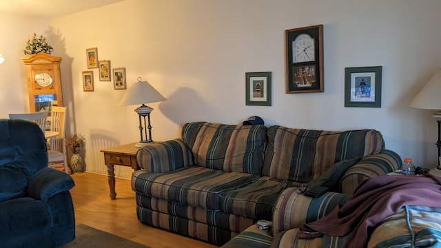
<path id="1" fill-rule="evenodd" d="M 235 232 L 243 231 L 254 223 L 254 219 L 252 218 L 227 214 L 223 211 L 190 207 L 139 193 L 136 193 L 136 206 L 140 209 L 152 209 L 153 211 L 163 214 L 173 213 L 174 216 Z"/>

